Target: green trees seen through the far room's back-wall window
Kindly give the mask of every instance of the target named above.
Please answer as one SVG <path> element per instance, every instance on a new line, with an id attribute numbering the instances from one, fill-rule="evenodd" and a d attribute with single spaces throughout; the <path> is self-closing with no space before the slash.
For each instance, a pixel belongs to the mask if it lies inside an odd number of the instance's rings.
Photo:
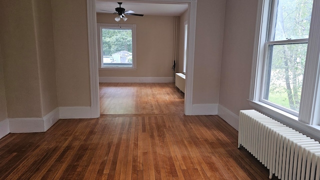
<path id="1" fill-rule="evenodd" d="M 103 55 L 112 55 L 115 52 L 126 50 L 132 53 L 131 29 L 102 29 Z"/>

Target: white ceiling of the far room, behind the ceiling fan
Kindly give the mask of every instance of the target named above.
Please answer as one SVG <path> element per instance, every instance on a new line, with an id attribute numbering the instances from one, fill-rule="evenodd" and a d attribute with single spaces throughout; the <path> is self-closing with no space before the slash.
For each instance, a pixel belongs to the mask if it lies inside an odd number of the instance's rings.
<path id="1" fill-rule="evenodd" d="M 112 13 L 115 11 L 115 7 L 119 7 L 119 4 L 115 1 L 95 1 L 95 10 L 99 13 Z M 160 3 L 140 3 L 140 2 L 123 2 L 121 4 L 125 10 L 133 10 L 134 13 L 144 15 L 168 15 L 179 16 L 187 8 L 187 4 L 160 4 Z M 102 10 L 101 10 L 102 9 Z M 112 12 L 106 12 L 108 10 Z"/>

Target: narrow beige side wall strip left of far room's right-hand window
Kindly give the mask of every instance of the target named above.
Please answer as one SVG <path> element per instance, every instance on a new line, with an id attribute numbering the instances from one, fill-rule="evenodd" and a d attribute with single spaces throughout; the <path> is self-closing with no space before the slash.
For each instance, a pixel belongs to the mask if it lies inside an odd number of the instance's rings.
<path id="1" fill-rule="evenodd" d="M 184 22 L 188 20 L 189 11 L 186 10 L 179 17 L 179 39 L 178 39 L 178 60 L 176 62 L 175 71 L 183 71 L 183 55 L 184 55 Z"/>

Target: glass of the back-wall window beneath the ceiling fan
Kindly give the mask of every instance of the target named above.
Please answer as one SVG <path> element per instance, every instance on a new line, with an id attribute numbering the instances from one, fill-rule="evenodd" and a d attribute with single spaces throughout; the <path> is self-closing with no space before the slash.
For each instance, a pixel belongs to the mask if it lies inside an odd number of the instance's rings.
<path id="1" fill-rule="evenodd" d="M 102 28 L 102 66 L 132 67 L 132 30 Z"/>

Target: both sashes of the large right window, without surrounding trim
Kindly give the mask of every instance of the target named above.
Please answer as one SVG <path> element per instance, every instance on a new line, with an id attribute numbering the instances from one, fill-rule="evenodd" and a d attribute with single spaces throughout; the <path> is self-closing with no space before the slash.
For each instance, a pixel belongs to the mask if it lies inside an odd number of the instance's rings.
<path id="1" fill-rule="evenodd" d="M 312 0 L 274 0 L 264 49 L 260 101 L 298 115 Z"/>

